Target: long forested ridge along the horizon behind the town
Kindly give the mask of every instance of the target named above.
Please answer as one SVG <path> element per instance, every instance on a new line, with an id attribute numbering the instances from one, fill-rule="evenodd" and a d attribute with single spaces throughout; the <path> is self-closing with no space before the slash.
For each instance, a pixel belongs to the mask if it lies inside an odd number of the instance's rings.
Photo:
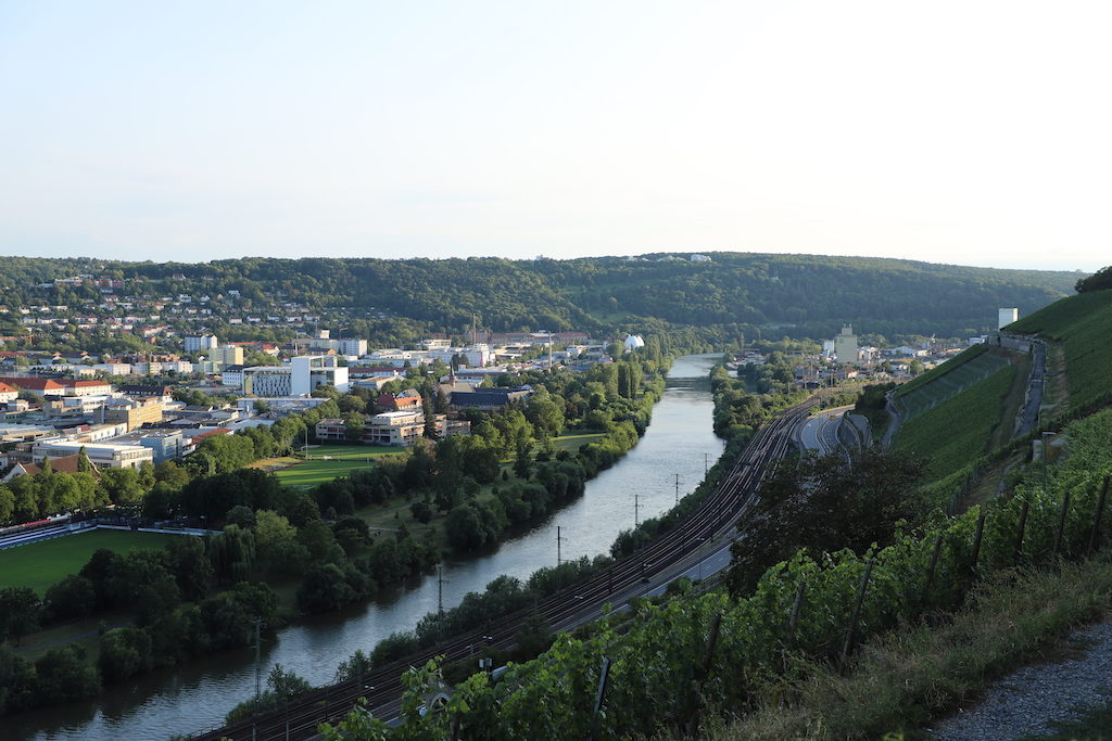
<path id="1" fill-rule="evenodd" d="M 994 328 L 997 307 L 1030 313 L 1071 292 L 1078 273 L 996 270 L 880 258 L 715 252 L 711 262 L 642 259 L 449 260 L 244 258 L 207 263 L 0 258 L 8 301 L 46 301 L 56 278 L 126 281 L 122 293 L 240 291 L 275 300 L 358 308 L 458 332 L 473 314 L 494 331 L 599 331 L 661 324 L 747 324 L 776 337 L 822 337 L 842 322 L 876 333 L 961 336 Z M 685 256 L 686 257 L 686 256 Z M 177 278 L 176 278 L 177 276 Z M 73 298 L 96 289 L 66 288 Z"/>

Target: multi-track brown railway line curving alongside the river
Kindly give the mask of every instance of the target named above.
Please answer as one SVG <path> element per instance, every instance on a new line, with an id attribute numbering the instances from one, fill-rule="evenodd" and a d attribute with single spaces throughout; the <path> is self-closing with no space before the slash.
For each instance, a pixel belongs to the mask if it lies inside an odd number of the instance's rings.
<path id="1" fill-rule="evenodd" d="M 616 561 L 606 572 L 569 584 L 538 602 L 534 610 L 523 610 L 492 622 L 479 632 L 469 632 L 425 649 L 404 660 L 377 668 L 359 680 L 340 682 L 300 695 L 295 702 L 255 720 L 202 733 L 199 741 L 266 741 L 268 739 L 307 739 L 316 735 L 317 725 L 341 720 L 359 698 L 367 698 L 376 718 L 397 717 L 403 694 L 401 674 L 437 655 L 446 661 L 466 659 L 476 645 L 510 649 L 522 621 L 534 612 L 558 628 L 574 623 L 577 617 L 596 613 L 614 595 L 626 595 L 644 580 L 652 579 L 694 553 L 703 542 L 733 529 L 753 501 L 753 493 L 770 463 L 780 460 L 791 445 L 795 424 L 805 418 L 815 401 L 808 399 L 762 427 L 734 461 L 714 492 L 686 519 L 636 553 Z"/>

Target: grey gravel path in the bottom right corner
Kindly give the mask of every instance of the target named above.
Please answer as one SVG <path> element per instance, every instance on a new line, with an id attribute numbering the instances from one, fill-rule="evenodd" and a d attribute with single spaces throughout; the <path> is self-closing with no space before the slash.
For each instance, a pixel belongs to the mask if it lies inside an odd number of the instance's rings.
<path id="1" fill-rule="evenodd" d="M 1011 741 L 1049 733 L 1051 723 L 1078 718 L 1078 707 L 1109 702 L 1112 688 L 1112 619 L 1073 632 L 1080 655 L 1059 663 L 1024 667 L 985 690 L 981 701 L 930 729 L 940 741 Z"/>

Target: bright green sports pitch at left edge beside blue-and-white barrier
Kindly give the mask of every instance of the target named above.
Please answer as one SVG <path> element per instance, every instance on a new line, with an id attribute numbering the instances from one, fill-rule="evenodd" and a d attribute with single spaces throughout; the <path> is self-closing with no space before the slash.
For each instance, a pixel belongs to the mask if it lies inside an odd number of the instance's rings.
<path id="1" fill-rule="evenodd" d="M 51 584 L 80 571 L 98 549 L 107 548 L 119 553 L 138 549 L 158 549 L 166 544 L 167 538 L 192 538 L 192 535 L 93 530 L 9 548 L 0 551 L 0 589 L 30 587 L 41 597 Z"/>

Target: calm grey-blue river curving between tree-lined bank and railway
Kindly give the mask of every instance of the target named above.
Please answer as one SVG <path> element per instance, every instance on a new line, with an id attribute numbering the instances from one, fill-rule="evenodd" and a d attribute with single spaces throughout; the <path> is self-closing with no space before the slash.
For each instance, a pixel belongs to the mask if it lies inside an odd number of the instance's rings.
<path id="1" fill-rule="evenodd" d="M 723 442 L 712 430 L 708 373 L 721 356 L 685 356 L 673 363 L 664 398 L 645 437 L 617 464 L 587 483 L 579 500 L 533 530 L 508 540 L 489 555 L 445 564 L 444 603 L 450 608 L 481 591 L 498 574 L 526 578 L 556 563 L 556 528 L 562 558 L 595 555 L 634 524 L 635 495 L 641 519 L 659 514 L 702 480 L 704 465 L 718 459 Z M 369 651 L 379 639 L 407 630 L 437 609 L 435 577 L 389 600 L 342 613 L 299 621 L 264 643 L 265 667 L 280 663 L 312 684 L 330 682 L 336 665 L 356 649 Z M 228 651 L 123 684 L 110 685 L 95 701 L 73 702 L 0 719 L 3 739 L 166 739 L 219 725 L 225 714 L 255 692 L 254 650 Z M 266 671 L 266 670 L 265 670 Z"/>

